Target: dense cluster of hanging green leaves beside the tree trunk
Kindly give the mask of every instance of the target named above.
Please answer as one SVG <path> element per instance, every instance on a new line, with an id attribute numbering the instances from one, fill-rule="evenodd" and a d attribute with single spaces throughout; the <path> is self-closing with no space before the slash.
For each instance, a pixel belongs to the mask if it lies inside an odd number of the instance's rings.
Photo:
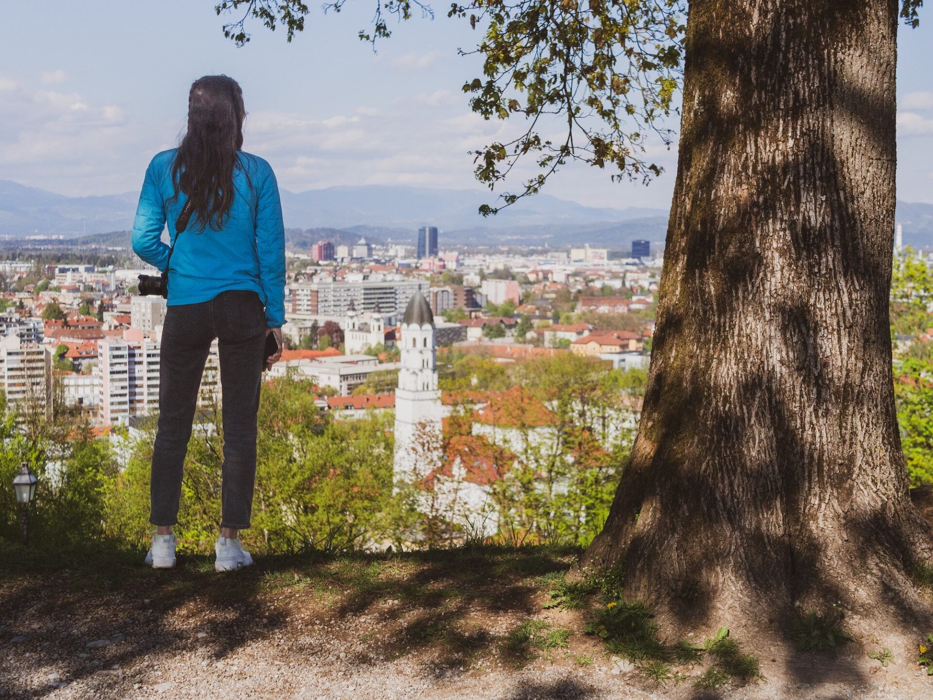
<path id="1" fill-rule="evenodd" d="M 448 14 L 469 14 L 471 26 L 485 27 L 477 48 L 465 52 L 485 57 L 483 77 L 464 86 L 473 111 L 486 119 L 520 114 L 527 123 L 515 139 L 474 151 L 477 179 L 494 189 L 527 153 L 541 154 L 540 172 L 480 214 L 535 194 L 568 161 L 611 166 L 613 179 L 647 182 L 661 174 L 640 154 L 648 133 L 671 143 L 672 132 L 655 122 L 670 113 L 680 77 L 684 3 L 477 0 Z M 554 116 L 564 133 L 542 139 L 537 130 L 550 130 Z"/>

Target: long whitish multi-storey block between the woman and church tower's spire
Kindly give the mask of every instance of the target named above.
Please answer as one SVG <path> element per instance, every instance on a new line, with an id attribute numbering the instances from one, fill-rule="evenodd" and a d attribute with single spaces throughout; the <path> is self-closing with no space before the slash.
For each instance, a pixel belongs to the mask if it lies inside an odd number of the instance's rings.
<path id="1" fill-rule="evenodd" d="M 411 280 L 401 274 L 373 275 L 358 282 L 335 282 L 324 277 L 291 287 L 292 315 L 346 316 L 353 302 L 357 312 L 399 315 L 418 290 L 426 293 L 426 280 Z"/>

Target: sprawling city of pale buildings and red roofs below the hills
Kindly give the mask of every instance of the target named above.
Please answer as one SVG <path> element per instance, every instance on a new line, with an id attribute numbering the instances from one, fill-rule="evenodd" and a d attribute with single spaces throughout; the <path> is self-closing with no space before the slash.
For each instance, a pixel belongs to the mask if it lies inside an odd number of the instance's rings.
<path id="1" fill-rule="evenodd" d="M 470 252 L 445 248 L 434 226 L 418 231 L 416 249 L 365 237 L 353 245 L 319 241 L 310 253 L 287 253 L 286 349 L 268 378 L 312 381 L 323 410 L 391 405 L 394 391 L 359 389 L 373 373 L 400 368 L 402 315 L 417 294 L 429 305 L 441 350 L 500 362 L 574 353 L 614 369 L 645 369 L 660 256 L 643 240 L 625 254 L 590 245 Z M 139 259 L 105 267 L 0 261 L 7 401 L 49 415 L 78 412 L 104 433 L 158 413 L 165 301 L 135 294 L 137 276 L 155 272 Z M 624 328 L 608 327 L 620 315 Z M 220 399 L 216 370 L 215 343 L 204 400 Z"/>

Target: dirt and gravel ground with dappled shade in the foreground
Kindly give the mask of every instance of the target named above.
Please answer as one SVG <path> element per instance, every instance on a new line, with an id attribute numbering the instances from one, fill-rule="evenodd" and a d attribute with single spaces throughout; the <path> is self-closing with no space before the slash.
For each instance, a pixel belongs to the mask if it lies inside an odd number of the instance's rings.
<path id="1" fill-rule="evenodd" d="M 836 655 L 797 654 L 775 636 L 744 650 L 759 656 L 763 676 L 745 687 L 697 688 L 703 665 L 661 685 L 582 634 L 585 613 L 542 608 L 550 599 L 542 577 L 575 554 L 266 557 L 221 575 L 201 556 L 154 571 L 137 563 L 141 553 L 62 563 L 3 551 L 0 697 L 933 697 L 916 640 L 884 631 Z M 554 631 L 552 643 L 515 637 L 527 621 Z M 881 644 L 894 657 L 886 668 L 867 656 Z"/>

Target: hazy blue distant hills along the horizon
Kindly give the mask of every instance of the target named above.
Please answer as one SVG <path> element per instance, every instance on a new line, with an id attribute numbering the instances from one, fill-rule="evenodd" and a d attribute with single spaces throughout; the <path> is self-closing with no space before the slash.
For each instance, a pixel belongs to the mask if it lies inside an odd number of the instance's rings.
<path id="1" fill-rule="evenodd" d="M 66 197 L 0 180 L 0 236 L 63 236 L 69 245 L 124 247 L 138 193 Z M 636 238 L 661 242 L 667 211 L 644 207 L 590 207 L 548 194 L 523 199 L 494 217 L 480 217 L 494 195 L 479 189 L 367 185 L 282 191 L 289 245 L 314 241 L 413 244 L 418 227 L 441 231 L 443 245 L 600 245 L 627 248 Z M 933 247 L 933 204 L 898 202 L 904 244 Z"/>

